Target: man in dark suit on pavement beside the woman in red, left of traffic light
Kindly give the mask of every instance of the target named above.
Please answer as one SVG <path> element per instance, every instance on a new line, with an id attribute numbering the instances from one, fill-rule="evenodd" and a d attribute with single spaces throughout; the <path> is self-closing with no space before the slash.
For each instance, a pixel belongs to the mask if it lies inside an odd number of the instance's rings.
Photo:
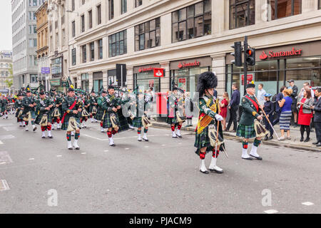
<path id="1" fill-rule="evenodd" d="M 240 91 L 238 90 L 238 85 L 236 83 L 233 83 L 232 85 L 233 93 L 230 98 L 230 104 L 228 105 L 228 109 L 230 110 L 230 120 L 228 120 L 228 126 L 226 127 L 226 131 L 230 130 L 230 125 L 232 125 L 233 122 L 233 131 L 236 132 L 236 128 L 238 126 L 238 106 L 240 105 Z"/>

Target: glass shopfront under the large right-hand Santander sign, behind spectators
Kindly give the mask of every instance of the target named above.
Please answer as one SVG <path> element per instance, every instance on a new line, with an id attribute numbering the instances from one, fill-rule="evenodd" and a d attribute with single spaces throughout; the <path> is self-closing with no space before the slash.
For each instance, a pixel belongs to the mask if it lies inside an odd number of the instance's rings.
<path id="1" fill-rule="evenodd" d="M 240 93 L 244 93 L 243 67 L 227 65 L 226 90 L 231 94 L 232 83 L 238 83 Z M 288 86 L 287 81 L 293 79 L 300 89 L 303 83 L 310 86 L 321 86 L 321 56 L 309 56 L 300 58 L 277 59 L 270 61 L 257 61 L 255 66 L 248 67 L 248 81 L 253 79 L 256 88 L 263 83 L 267 93 L 275 95 L 280 87 Z"/>

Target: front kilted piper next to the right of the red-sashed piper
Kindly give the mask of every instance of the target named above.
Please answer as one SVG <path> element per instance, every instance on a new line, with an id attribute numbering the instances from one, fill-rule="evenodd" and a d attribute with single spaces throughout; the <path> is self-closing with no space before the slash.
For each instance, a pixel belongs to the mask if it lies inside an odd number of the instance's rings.
<path id="1" fill-rule="evenodd" d="M 118 133 L 120 127 L 117 112 L 121 108 L 121 105 L 118 102 L 119 101 L 115 96 L 115 88 L 113 86 L 108 86 L 108 95 L 103 98 L 101 109 L 103 110 L 103 128 L 108 128 L 107 135 L 110 146 L 115 146 L 113 135 Z"/>

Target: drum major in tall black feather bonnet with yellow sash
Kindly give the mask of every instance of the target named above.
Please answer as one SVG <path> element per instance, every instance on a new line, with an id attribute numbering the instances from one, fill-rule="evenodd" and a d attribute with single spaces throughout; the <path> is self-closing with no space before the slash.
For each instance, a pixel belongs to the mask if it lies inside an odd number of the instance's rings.
<path id="1" fill-rule="evenodd" d="M 197 88 L 199 100 L 196 100 L 200 111 L 198 126 L 195 130 L 194 147 L 197 148 L 195 153 L 200 157 L 200 172 L 205 174 L 209 173 L 205 167 L 205 155 L 208 152 L 212 152 L 209 170 L 223 173 L 223 170 L 216 165 L 220 149 L 224 150 L 222 125 L 218 124 L 218 121 L 223 120 L 223 117 L 218 114 L 220 105 L 218 99 L 213 95 L 216 86 L 218 86 L 218 78 L 215 73 L 204 72 L 200 74 Z"/>

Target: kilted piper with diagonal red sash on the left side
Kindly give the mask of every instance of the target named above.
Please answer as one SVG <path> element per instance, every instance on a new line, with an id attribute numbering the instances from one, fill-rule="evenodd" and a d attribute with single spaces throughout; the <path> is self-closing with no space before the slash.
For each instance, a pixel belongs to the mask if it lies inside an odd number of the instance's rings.
<path id="1" fill-rule="evenodd" d="M 80 137 L 80 128 L 79 125 L 79 113 L 81 113 L 81 107 L 83 103 L 75 96 L 75 90 L 71 85 L 68 88 L 67 95 L 63 98 L 62 110 L 63 117 L 61 119 L 61 129 L 67 130 L 67 142 L 68 150 L 73 150 L 75 147 L 76 150 L 79 150 L 78 139 Z M 75 140 L 73 141 L 73 146 L 71 145 L 71 132 L 75 131 Z"/>

